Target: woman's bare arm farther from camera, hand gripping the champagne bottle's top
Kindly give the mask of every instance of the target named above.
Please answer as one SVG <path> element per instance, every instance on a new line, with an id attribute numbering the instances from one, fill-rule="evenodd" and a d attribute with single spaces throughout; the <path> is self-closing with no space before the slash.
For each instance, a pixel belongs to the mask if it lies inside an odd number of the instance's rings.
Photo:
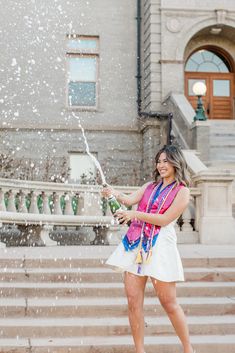
<path id="1" fill-rule="evenodd" d="M 101 193 L 104 197 L 109 197 L 110 195 L 113 195 L 123 205 L 132 206 L 132 205 L 137 204 L 141 200 L 141 198 L 144 194 L 144 191 L 149 184 L 150 184 L 150 182 L 144 184 L 138 190 L 134 191 L 133 193 L 131 193 L 129 195 L 120 193 L 118 190 L 115 190 L 114 188 L 112 188 L 110 186 L 104 187 Z"/>

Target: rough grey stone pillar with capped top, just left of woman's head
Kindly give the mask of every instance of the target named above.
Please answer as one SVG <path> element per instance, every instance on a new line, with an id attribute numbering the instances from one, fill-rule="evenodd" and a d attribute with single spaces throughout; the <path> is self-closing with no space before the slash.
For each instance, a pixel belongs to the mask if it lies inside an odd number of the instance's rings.
<path id="1" fill-rule="evenodd" d="M 168 120 L 158 118 L 140 119 L 140 130 L 143 134 L 142 182 L 152 179 L 155 156 L 159 149 L 167 143 Z"/>

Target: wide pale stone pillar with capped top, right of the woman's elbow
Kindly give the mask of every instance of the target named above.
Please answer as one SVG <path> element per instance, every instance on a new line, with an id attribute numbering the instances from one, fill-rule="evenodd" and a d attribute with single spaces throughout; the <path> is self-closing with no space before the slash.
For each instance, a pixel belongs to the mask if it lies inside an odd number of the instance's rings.
<path id="1" fill-rule="evenodd" d="M 200 189 L 198 227 L 201 244 L 235 244 L 235 219 L 232 216 L 230 171 L 202 171 L 193 177 Z"/>

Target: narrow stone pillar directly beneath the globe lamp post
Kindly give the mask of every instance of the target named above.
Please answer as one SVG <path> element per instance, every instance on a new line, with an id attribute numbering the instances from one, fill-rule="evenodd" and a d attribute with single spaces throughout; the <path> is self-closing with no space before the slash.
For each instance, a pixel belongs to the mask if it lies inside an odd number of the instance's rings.
<path id="1" fill-rule="evenodd" d="M 206 162 L 210 159 L 210 122 L 194 121 L 192 123 L 192 149 L 200 153 L 200 159 Z"/>

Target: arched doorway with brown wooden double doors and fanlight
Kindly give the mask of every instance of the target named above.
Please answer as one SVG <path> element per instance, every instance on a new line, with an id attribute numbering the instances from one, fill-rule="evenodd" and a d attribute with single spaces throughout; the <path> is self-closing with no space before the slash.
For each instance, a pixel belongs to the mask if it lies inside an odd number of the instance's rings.
<path id="1" fill-rule="evenodd" d="M 207 86 L 203 97 L 209 119 L 234 118 L 234 70 L 232 60 L 222 50 L 204 47 L 194 51 L 185 65 L 185 95 L 193 108 L 197 97 L 192 87 L 197 81 Z"/>

